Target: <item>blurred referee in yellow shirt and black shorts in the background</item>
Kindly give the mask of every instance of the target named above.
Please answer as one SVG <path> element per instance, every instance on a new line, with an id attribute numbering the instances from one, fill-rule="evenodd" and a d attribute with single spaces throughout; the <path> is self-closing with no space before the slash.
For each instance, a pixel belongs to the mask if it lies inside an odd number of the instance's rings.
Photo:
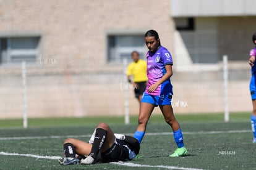
<path id="1" fill-rule="evenodd" d="M 134 62 L 128 65 L 127 79 L 129 83 L 133 84 L 135 97 L 139 100 L 140 103 L 143 92 L 147 87 L 147 62 L 140 59 L 140 54 L 137 51 L 133 51 L 131 57 Z"/>

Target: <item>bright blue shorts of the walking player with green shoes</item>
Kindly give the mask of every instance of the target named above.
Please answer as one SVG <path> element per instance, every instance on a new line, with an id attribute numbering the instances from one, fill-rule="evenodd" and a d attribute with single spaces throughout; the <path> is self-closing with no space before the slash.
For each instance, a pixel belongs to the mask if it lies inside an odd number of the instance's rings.
<path id="1" fill-rule="evenodd" d="M 157 107 L 158 105 L 171 105 L 171 99 L 173 97 L 173 94 L 161 94 L 158 95 L 150 95 L 147 93 L 143 93 L 142 95 L 142 102 L 143 103 L 150 103 L 155 105 Z"/>

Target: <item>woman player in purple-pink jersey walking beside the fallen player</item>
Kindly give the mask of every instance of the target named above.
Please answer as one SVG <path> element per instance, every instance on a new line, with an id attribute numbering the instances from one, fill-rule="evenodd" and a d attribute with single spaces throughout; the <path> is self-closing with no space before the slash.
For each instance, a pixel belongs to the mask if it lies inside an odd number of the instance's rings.
<path id="1" fill-rule="evenodd" d="M 173 95 L 173 86 L 170 77 L 173 75 L 173 59 L 170 52 L 161 46 L 160 38 L 155 30 L 149 30 L 145 33 L 145 44 L 148 47 L 147 52 L 147 76 L 148 85 L 142 97 L 137 130 L 134 137 L 142 141 L 146 131 L 147 122 L 155 107 L 159 105 L 166 123 L 173 129 L 174 140 L 177 149 L 171 157 L 187 155 L 187 149 L 183 144 L 181 127 L 173 114 L 171 99 Z"/>

